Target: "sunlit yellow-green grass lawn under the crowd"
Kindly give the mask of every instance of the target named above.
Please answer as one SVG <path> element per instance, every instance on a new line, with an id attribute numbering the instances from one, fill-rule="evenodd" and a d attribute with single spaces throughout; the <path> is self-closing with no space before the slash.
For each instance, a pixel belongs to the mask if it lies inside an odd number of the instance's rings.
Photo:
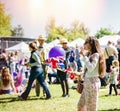
<path id="1" fill-rule="evenodd" d="M 70 87 L 72 84 L 70 84 Z M 35 96 L 32 89 L 27 101 L 17 99 L 18 95 L 0 95 L 0 111 L 76 111 L 80 94 L 76 90 L 70 89 L 70 97 L 61 97 L 60 85 L 50 85 L 52 99 L 44 100 Z M 41 91 L 42 92 L 42 91 Z M 99 111 L 120 111 L 120 95 L 109 96 L 108 89 L 100 89 Z M 42 93 L 41 93 L 42 95 Z"/>

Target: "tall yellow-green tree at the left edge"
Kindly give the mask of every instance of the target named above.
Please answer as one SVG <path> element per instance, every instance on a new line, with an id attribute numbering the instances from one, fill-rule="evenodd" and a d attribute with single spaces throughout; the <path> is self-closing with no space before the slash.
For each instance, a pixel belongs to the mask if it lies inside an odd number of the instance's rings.
<path id="1" fill-rule="evenodd" d="M 11 36 L 11 17 L 5 13 L 5 6 L 0 2 L 0 36 Z"/>

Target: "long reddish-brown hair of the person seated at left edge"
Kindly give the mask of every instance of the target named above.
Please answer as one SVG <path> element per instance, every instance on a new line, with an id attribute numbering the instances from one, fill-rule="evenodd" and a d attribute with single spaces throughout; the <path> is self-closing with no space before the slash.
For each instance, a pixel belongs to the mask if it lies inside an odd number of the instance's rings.
<path id="1" fill-rule="evenodd" d="M 5 87 L 7 87 L 10 84 L 10 82 L 12 81 L 12 78 L 11 78 L 11 75 L 9 73 L 9 68 L 7 68 L 7 67 L 2 68 L 1 79 L 2 79 L 3 85 Z"/>

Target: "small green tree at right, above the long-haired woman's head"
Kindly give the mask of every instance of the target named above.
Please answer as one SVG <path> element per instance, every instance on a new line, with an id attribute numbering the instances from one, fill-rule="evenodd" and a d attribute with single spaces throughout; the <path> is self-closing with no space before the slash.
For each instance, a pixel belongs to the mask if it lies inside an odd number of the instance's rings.
<path id="1" fill-rule="evenodd" d="M 101 28 L 96 34 L 95 37 L 98 39 L 105 35 L 116 35 L 115 32 L 112 32 L 109 28 Z"/>

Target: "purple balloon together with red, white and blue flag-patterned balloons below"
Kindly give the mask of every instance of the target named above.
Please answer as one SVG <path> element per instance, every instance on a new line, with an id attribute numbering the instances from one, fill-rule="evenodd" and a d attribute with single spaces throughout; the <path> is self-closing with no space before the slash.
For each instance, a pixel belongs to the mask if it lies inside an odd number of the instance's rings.
<path id="1" fill-rule="evenodd" d="M 71 79 L 74 79 L 75 76 L 72 72 L 72 68 L 65 69 L 65 51 L 60 46 L 55 46 L 49 51 L 49 59 L 47 59 L 44 64 L 50 66 L 51 68 L 56 68 L 64 71 L 66 74 L 70 75 Z"/>

